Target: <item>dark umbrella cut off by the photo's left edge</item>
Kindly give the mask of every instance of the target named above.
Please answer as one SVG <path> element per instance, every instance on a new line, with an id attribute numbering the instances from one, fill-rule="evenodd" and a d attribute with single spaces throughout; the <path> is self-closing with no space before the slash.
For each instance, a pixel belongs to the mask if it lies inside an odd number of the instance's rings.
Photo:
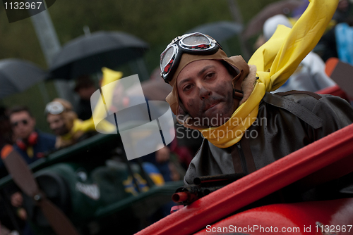
<path id="1" fill-rule="evenodd" d="M 19 60 L 5 59 L 0 61 L 0 99 L 25 91 L 44 80 L 47 72 L 36 65 Z"/>

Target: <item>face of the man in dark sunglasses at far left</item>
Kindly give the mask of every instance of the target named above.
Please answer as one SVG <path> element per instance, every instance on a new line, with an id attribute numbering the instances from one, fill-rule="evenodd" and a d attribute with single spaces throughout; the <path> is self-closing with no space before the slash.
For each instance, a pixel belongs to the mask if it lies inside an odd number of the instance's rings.
<path id="1" fill-rule="evenodd" d="M 27 139 L 35 130 L 35 119 L 27 111 L 20 111 L 10 115 L 13 134 L 16 138 Z"/>

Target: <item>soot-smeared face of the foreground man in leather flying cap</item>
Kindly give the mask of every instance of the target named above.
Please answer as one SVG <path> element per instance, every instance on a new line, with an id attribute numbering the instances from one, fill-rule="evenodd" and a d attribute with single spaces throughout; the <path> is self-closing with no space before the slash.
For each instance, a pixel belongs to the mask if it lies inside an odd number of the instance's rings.
<path id="1" fill-rule="evenodd" d="M 177 77 L 179 98 L 201 125 L 220 126 L 234 111 L 232 79 L 220 61 L 194 61 Z"/>

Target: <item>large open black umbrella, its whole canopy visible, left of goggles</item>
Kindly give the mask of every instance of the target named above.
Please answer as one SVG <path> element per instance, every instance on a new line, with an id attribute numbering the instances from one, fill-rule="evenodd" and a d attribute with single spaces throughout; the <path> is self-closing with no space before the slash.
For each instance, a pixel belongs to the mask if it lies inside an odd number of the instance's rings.
<path id="1" fill-rule="evenodd" d="M 115 68 L 143 55 L 148 44 L 124 32 L 95 32 L 63 46 L 49 68 L 54 78 L 71 79 Z"/>

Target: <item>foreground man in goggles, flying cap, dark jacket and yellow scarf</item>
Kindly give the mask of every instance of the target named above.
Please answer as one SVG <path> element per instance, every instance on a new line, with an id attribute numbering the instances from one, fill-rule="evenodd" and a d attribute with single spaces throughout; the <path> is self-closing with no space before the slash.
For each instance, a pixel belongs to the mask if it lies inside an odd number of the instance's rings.
<path id="1" fill-rule="evenodd" d="M 175 38 L 160 56 L 161 76 L 177 120 L 205 137 L 184 184 L 194 177 L 250 174 L 353 122 L 336 96 L 308 91 L 270 94 L 317 44 L 338 0 L 313 0 L 289 29 L 277 27 L 248 63 L 228 57 L 202 33 Z"/>

